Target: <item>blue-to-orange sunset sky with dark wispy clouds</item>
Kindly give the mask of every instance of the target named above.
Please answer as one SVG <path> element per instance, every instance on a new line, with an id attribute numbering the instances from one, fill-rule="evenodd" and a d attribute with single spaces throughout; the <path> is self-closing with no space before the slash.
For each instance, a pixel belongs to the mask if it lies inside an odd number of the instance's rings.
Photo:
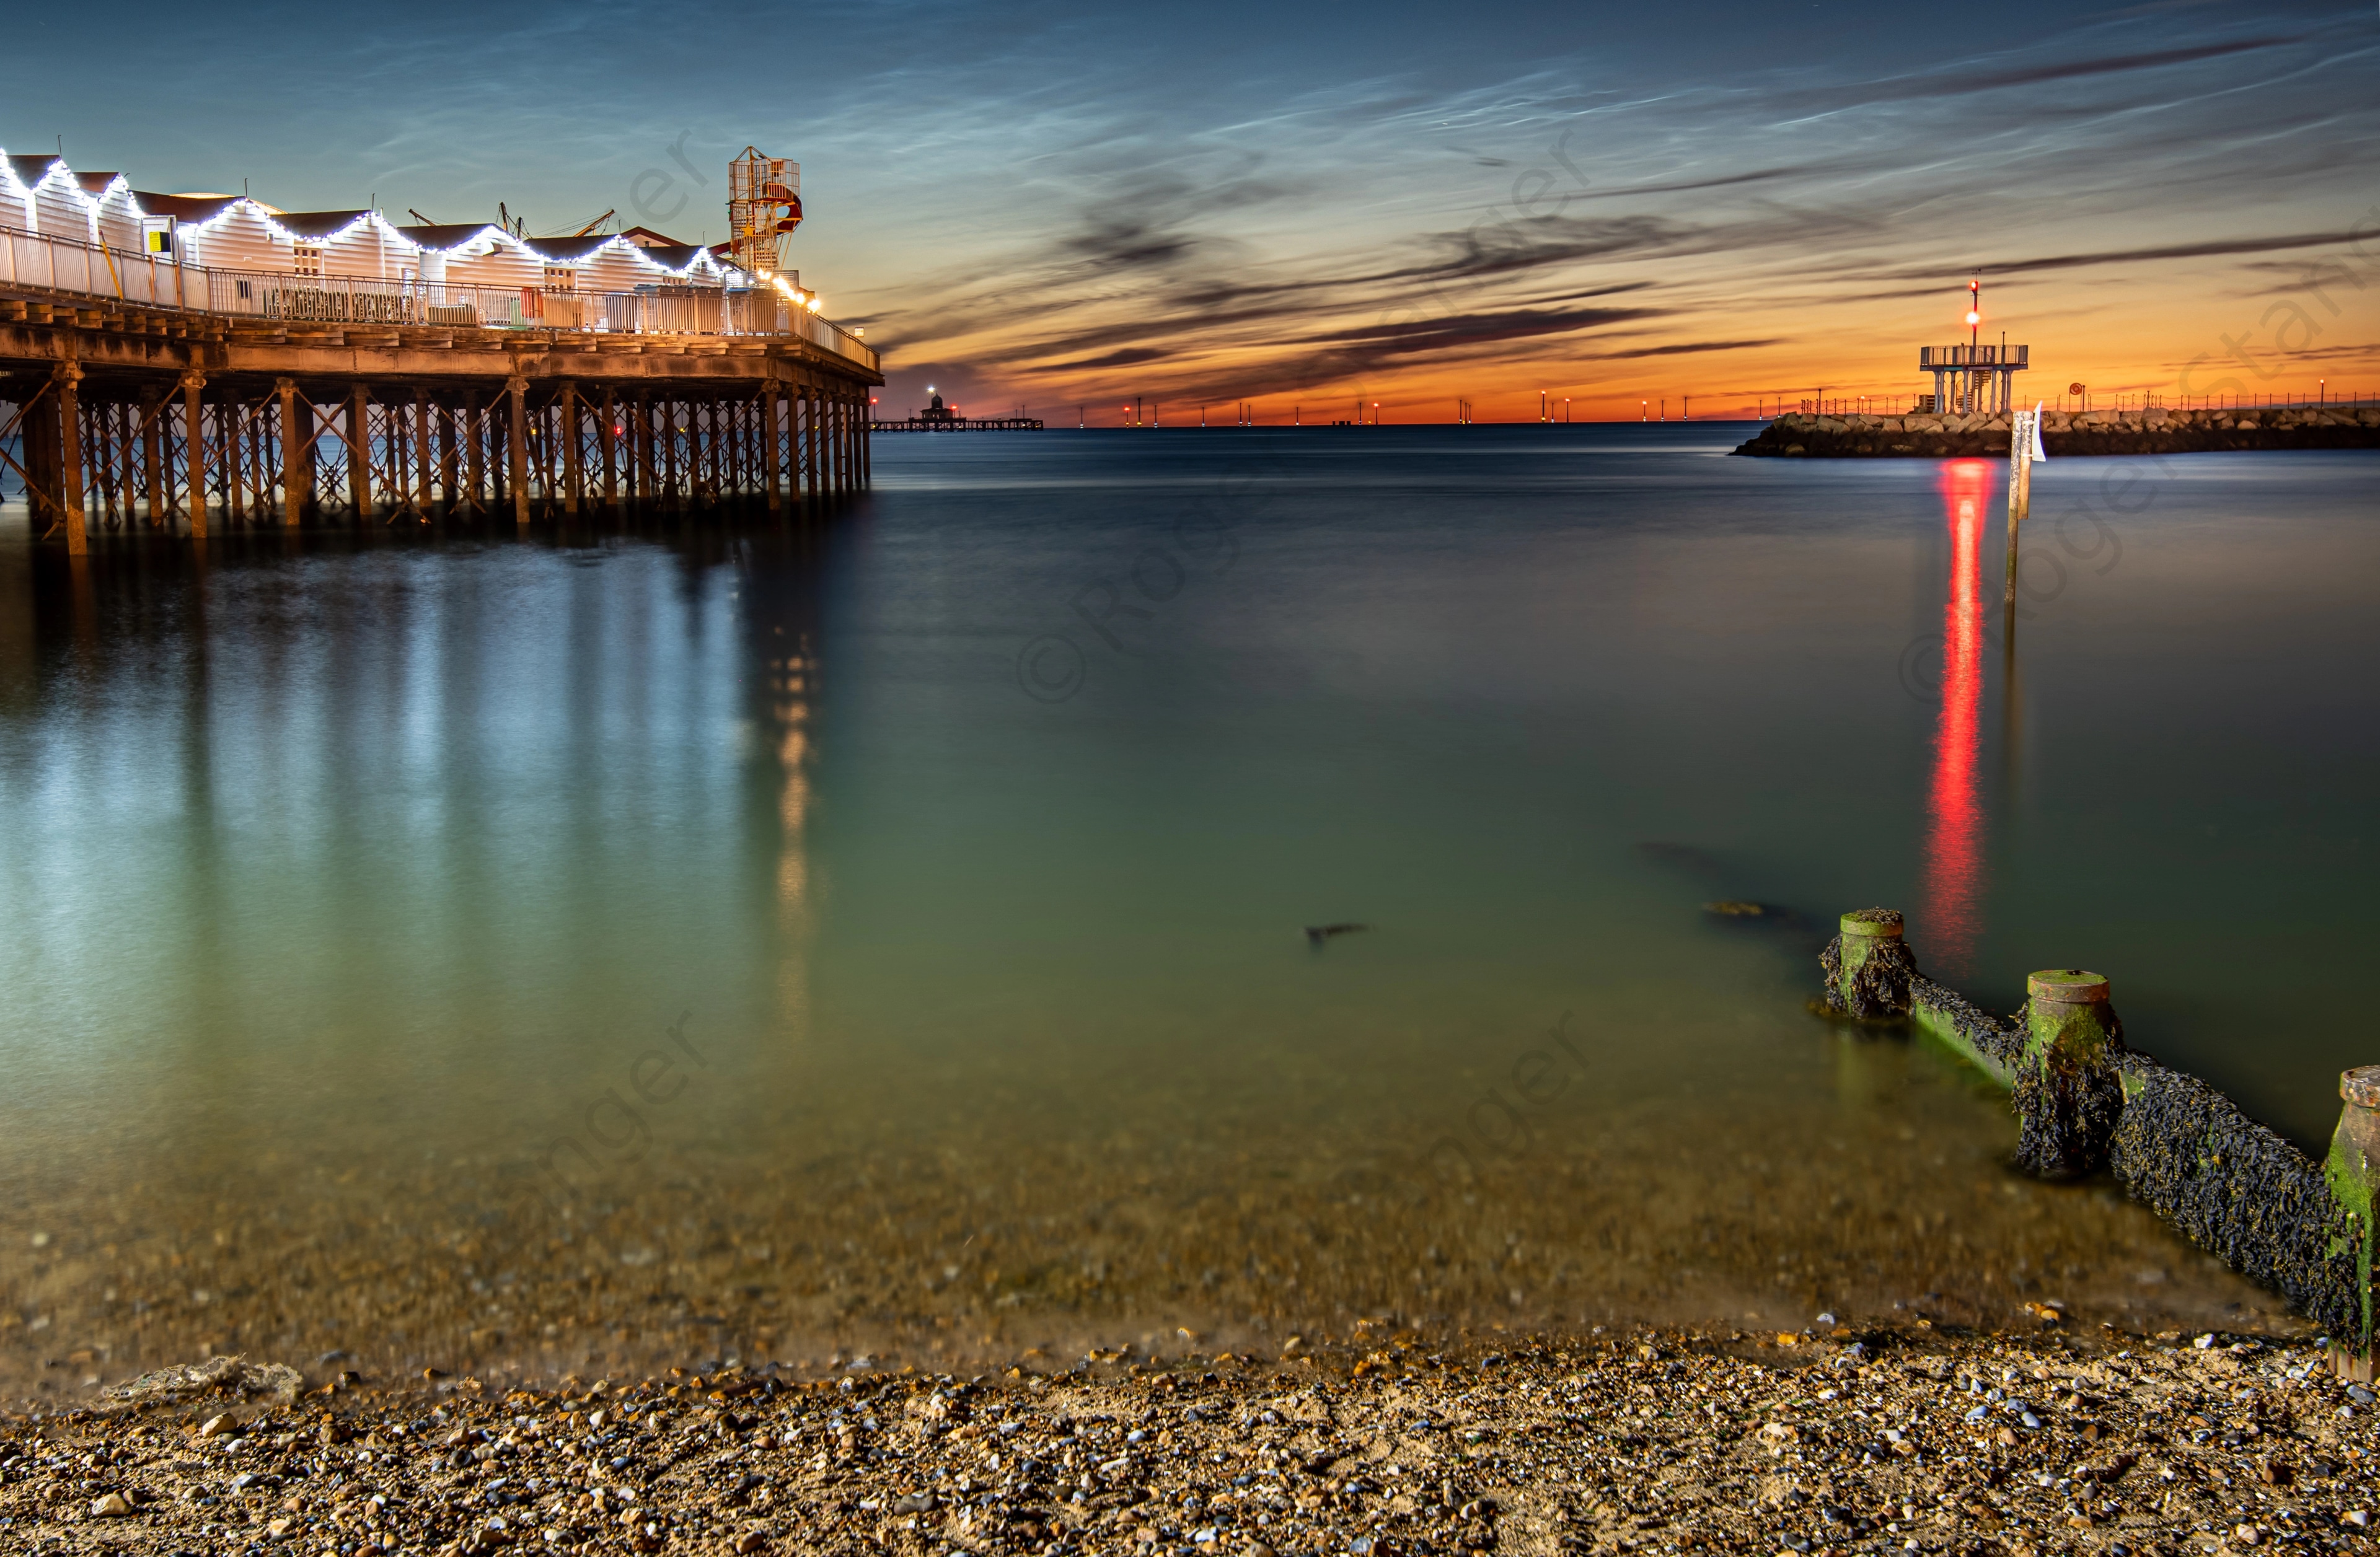
<path id="1" fill-rule="evenodd" d="M 2375 0 L 119 0 L 10 52 L 0 148 L 286 210 L 716 240 L 795 157 L 892 414 L 1890 407 L 1968 276 L 2028 400 L 2380 393 Z"/>

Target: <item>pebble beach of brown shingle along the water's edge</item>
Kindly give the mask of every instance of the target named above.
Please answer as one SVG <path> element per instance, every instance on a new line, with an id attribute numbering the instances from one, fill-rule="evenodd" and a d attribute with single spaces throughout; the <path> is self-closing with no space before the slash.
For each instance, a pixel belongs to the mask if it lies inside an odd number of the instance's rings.
<path id="1" fill-rule="evenodd" d="M 12 1552 L 2361 1552 L 2309 1340 L 1635 1331 L 495 1388 L 259 1359 L 0 1426 Z"/>

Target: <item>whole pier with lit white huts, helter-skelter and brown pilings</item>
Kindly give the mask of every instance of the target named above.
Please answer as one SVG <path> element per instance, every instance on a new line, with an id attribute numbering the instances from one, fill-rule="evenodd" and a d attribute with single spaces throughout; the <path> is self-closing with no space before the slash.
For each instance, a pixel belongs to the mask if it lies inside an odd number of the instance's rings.
<path id="1" fill-rule="evenodd" d="M 883 369 L 783 269 L 800 167 L 747 148 L 728 195 L 714 248 L 531 238 L 0 152 L 0 483 L 71 552 L 862 490 Z"/>

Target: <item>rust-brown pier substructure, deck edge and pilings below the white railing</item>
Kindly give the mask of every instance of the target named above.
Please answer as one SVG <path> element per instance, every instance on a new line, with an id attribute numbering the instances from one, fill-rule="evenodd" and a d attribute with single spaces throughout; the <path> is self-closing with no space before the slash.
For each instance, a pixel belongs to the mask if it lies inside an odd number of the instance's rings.
<path id="1" fill-rule="evenodd" d="M 783 514 L 869 486 L 881 383 L 795 326 L 317 326 L 0 286 L 0 469 L 71 555 L 93 529 Z"/>

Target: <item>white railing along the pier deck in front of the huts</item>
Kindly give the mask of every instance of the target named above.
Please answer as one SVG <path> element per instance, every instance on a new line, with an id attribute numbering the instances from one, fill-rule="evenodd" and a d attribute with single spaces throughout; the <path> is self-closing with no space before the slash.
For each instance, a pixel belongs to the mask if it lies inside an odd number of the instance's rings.
<path id="1" fill-rule="evenodd" d="M 852 331 L 759 288 L 657 283 L 626 293 L 550 293 L 538 286 L 233 271 L 17 229 L 0 229 L 0 286 L 286 324 L 797 336 L 869 371 L 883 367 Z"/>

